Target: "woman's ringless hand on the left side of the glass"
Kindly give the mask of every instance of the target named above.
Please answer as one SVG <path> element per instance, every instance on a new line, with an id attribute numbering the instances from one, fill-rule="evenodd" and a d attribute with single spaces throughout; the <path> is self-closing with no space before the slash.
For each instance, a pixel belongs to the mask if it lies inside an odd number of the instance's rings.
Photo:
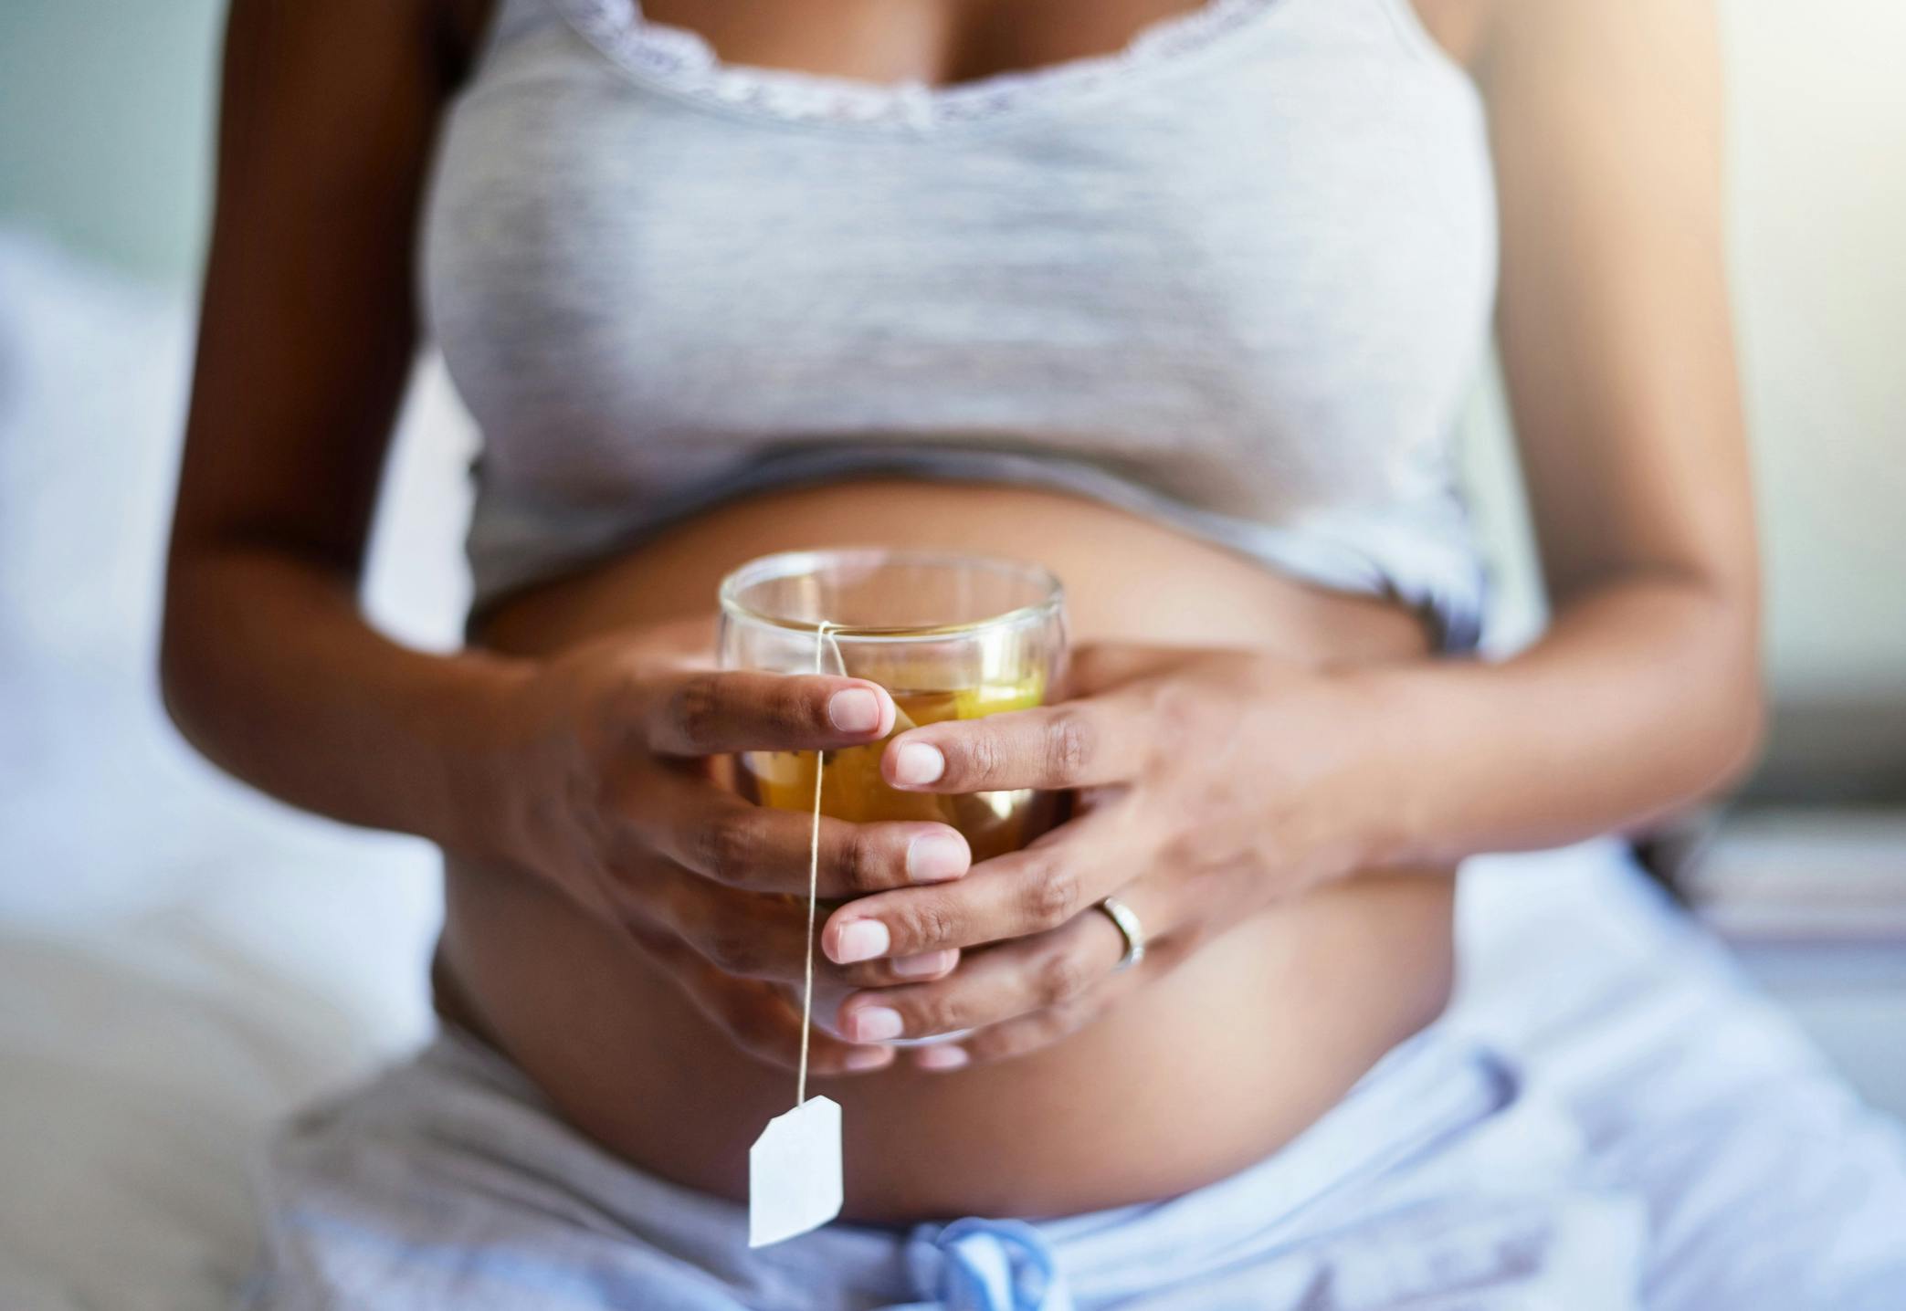
<path id="1" fill-rule="evenodd" d="M 627 934 L 741 1048 L 793 1067 L 812 817 L 738 797 L 719 760 L 873 743 L 896 711 L 863 678 L 713 669 L 707 633 L 707 623 L 635 629 L 526 675 L 484 734 L 497 743 L 488 768 L 501 776 L 482 791 L 511 798 L 484 827 L 511 865 Z M 821 898 L 959 878 L 970 863 L 966 840 L 943 823 L 820 825 Z M 934 951 L 839 966 L 816 953 L 814 1014 L 831 1016 L 848 991 L 936 979 L 957 962 L 957 951 Z M 890 1046 L 823 1029 L 808 1052 L 816 1075 L 892 1059 Z"/>

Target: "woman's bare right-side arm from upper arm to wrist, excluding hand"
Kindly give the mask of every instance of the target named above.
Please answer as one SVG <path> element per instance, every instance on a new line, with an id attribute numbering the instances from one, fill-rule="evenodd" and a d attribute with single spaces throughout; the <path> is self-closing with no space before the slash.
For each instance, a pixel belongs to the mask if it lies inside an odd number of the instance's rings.
<path id="1" fill-rule="evenodd" d="M 1500 665 L 1365 678 L 1382 859 L 1645 823 L 1761 730 L 1713 0 L 1492 8 L 1502 360 L 1555 617 Z"/>

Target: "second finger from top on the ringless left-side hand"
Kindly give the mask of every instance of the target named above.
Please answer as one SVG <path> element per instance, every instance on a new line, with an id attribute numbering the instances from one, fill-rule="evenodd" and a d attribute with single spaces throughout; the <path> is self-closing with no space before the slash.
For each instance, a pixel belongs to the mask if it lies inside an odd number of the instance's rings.
<path id="1" fill-rule="evenodd" d="M 755 806 L 686 770 L 635 776 L 618 812 L 637 850 L 654 850 L 703 878 L 747 892 L 806 896 L 814 817 Z M 823 817 L 818 880 L 823 898 L 959 878 L 972 852 L 957 829 L 932 821 L 848 823 Z"/>

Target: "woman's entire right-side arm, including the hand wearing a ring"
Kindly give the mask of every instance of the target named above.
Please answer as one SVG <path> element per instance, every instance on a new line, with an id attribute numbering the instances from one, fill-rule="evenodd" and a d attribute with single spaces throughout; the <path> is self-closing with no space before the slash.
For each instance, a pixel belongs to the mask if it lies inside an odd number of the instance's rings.
<path id="1" fill-rule="evenodd" d="M 835 960 L 1004 943 L 848 998 L 844 1033 L 879 1006 L 907 1037 L 982 1027 L 966 1054 L 1016 1056 L 1279 898 L 1645 823 L 1748 762 L 1755 553 L 1713 4 L 1490 8 L 1504 364 L 1553 625 L 1496 665 L 1092 650 L 1075 701 L 898 736 L 896 787 L 1073 787 L 1086 804 L 957 884 L 837 909 Z M 1105 896 L 1151 939 L 1115 981 L 1125 943 L 1090 913 Z"/>

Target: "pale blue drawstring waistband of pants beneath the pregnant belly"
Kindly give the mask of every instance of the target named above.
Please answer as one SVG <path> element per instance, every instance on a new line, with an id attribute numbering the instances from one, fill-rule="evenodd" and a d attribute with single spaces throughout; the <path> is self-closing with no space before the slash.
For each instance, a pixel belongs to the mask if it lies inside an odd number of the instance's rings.
<path id="1" fill-rule="evenodd" d="M 476 1039 L 446 1031 L 416 1067 L 555 1115 L 522 1071 Z M 1064 1265 L 1088 1286 L 1121 1288 L 1144 1282 L 1144 1271 L 1168 1263 L 1191 1273 L 1218 1267 L 1233 1254 L 1275 1244 L 1281 1233 L 1327 1223 L 1332 1199 L 1353 1199 L 1361 1185 L 1382 1178 L 1439 1141 L 1464 1134 L 1517 1098 L 1513 1071 L 1489 1048 L 1441 1025 L 1418 1033 L 1386 1054 L 1315 1124 L 1245 1170 L 1189 1193 L 1083 1212 L 1075 1216 L 949 1218 L 915 1227 L 837 1221 L 772 1248 L 747 1248 L 747 1208 L 667 1180 L 625 1160 L 597 1157 L 591 1180 L 570 1183 L 614 1214 L 633 1233 L 675 1252 L 692 1252 L 709 1273 L 738 1288 L 789 1288 L 821 1281 L 841 1288 L 915 1284 L 934 1301 L 923 1305 L 1037 1307 L 1064 1311 L 1064 1301 L 1041 1300 L 1041 1286 L 1060 1286 L 1048 1275 Z M 980 1273 L 974 1273 L 978 1267 Z M 1020 1288 L 1031 1301 L 947 1298 L 947 1281 L 980 1281 L 999 1271 L 997 1288 Z M 1004 1282 L 999 1282 L 1004 1281 Z M 938 1288 L 934 1284 L 940 1284 Z"/>

